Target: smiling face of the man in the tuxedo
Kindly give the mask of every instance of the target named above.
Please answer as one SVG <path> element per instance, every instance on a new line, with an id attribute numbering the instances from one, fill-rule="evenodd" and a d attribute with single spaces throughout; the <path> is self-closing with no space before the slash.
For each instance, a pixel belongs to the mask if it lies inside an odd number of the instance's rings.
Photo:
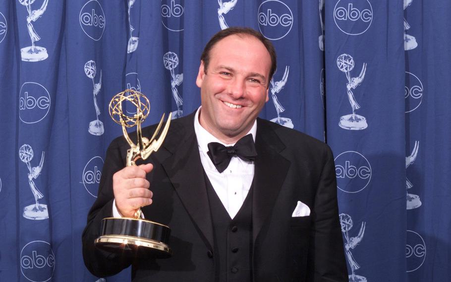
<path id="1" fill-rule="evenodd" d="M 269 52 L 252 36 L 230 35 L 216 43 L 207 73 L 201 62 L 196 78 L 202 127 L 226 143 L 246 135 L 268 101 L 270 69 Z"/>

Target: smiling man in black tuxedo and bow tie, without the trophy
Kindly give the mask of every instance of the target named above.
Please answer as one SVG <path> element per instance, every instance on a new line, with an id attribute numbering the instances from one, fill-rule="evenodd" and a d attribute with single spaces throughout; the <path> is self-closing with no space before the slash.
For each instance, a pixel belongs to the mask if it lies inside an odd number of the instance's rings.
<path id="1" fill-rule="evenodd" d="M 127 143 L 112 142 L 83 232 L 93 274 L 132 264 L 133 281 L 347 281 L 331 150 L 257 118 L 275 70 L 274 47 L 260 33 L 220 31 L 201 57 L 202 106 L 171 122 L 162 148 L 123 168 Z M 238 143 L 250 151 L 243 156 Z M 240 155 L 221 163 L 221 149 Z M 102 218 L 139 207 L 171 228 L 171 258 L 128 261 L 94 247 Z"/>

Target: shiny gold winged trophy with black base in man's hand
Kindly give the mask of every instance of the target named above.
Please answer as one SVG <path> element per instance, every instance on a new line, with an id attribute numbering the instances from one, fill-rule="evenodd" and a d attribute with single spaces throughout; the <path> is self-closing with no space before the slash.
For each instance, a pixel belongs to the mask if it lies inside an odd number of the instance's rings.
<path id="1" fill-rule="evenodd" d="M 136 107 L 133 116 L 124 115 L 123 102 Z M 149 115 L 149 99 L 138 91 L 127 89 L 116 94 L 110 102 L 110 116 L 114 122 L 122 126 L 122 133 L 130 145 L 127 150 L 127 166 L 136 165 L 136 160 L 147 159 L 157 151 L 165 140 L 169 130 L 171 114 L 159 138 L 156 139 L 165 118 L 163 114 L 160 124 L 149 140 L 142 136 L 141 124 Z M 136 126 L 137 144 L 128 136 L 126 128 Z M 171 256 L 169 248 L 170 228 L 161 223 L 141 218 L 141 209 L 133 217 L 108 217 L 102 220 L 101 236 L 95 240 L 97 247 L 109 251 L 131 251 L 138 255 L 154 255 L 160 258 Z"/>

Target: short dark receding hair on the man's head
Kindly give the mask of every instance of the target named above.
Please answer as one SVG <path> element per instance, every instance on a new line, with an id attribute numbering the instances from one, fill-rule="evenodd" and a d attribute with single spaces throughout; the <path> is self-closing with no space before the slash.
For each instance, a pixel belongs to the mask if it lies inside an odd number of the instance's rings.
<path id="1" fill-rule="evenodd" d="M 273 43 L 271 43 L 270 40 L 265 38 L 263 34 L 249 27 L 229 27 L 213 35 L 210 41 L 208 41 L 207 45 L 205 45 L 204 51 L 202 51 L 202 55 L 200 56 L 201 61 L 204 62 L 205 72 L 207 72 L 208 64 L 210 63 L 210 52 L 213 49 L 213 47 L 219 41 L 230 35 L 252 36 L 258 39 L 266 47 L 266 50 L 268 50 L 269 55 L 271 57 L 271 69 L 269 71 L 268 77 L 268 86 L 269 86 L 269 81 L 271 81 L 271 78 L 273 77 L 273 74 L 274 72 L 276 72 L 277 69 L 276 49 L 274 48 Z"/>

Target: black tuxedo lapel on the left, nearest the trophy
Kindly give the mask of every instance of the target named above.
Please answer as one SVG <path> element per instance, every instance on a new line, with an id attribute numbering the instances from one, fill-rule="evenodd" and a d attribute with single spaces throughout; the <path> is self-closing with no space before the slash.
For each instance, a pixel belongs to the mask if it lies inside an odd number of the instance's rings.
<path id="1" fill-rule="evenodd" d="M 213 226 L 203 167 L 200 160 L 194 114 L 171 125 L 164 146 L 171 153 L 162 165 L 180 201 L 213 250 Z"/>

